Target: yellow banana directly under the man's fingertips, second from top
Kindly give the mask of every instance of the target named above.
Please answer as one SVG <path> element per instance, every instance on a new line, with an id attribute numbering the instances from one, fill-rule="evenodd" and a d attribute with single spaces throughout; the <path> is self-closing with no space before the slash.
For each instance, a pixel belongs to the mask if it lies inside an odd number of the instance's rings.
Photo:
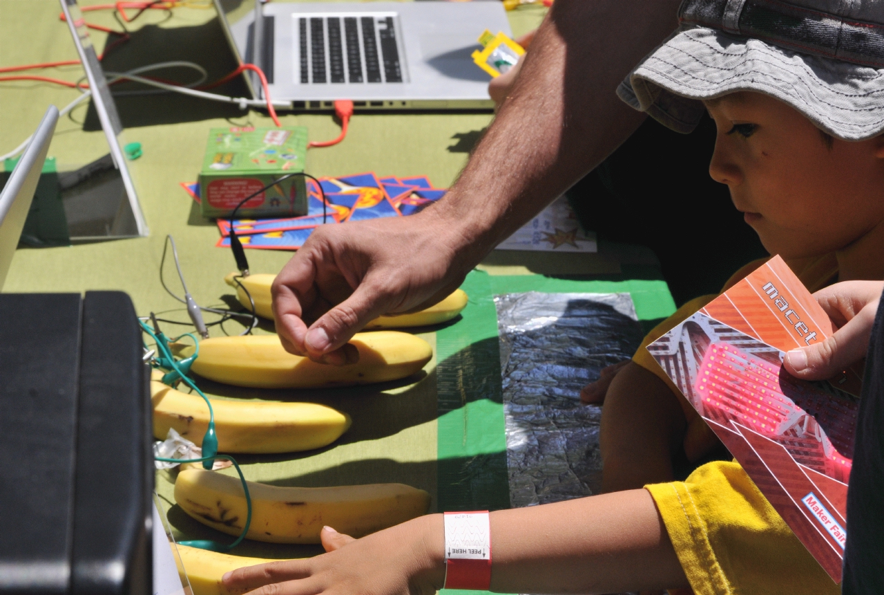
<path id="1" fill-rule="evenodd" d="M 288 353 L 277 335 L 203 339 L 191 369 L 227 385 L 316 388 L 407 378 L 421 370 L 433 355 L 429 343 L 407 332 L 360 332 L 350 344 L 359 351 L 359 361 L 331 366 Z M 192 349 L 184 348 L 182 355 L 193 353 Z"/>

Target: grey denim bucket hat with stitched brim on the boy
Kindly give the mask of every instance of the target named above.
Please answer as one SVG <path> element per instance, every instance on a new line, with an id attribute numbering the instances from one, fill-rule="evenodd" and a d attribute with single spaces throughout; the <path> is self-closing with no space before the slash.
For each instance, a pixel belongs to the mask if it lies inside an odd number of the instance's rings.
<path id="1" fill-rule="evenodd" d="M 617 88 L 661 124 L 690 133 L 701 100 L 756 91 L 846 141 L 884 131 L 884 1 L 683 0 L 678 18 Z"/>

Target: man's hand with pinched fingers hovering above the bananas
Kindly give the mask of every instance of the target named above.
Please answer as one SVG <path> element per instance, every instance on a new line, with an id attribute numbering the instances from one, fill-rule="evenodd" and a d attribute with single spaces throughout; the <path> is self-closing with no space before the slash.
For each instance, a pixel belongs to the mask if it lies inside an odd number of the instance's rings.
<path id="1" fill-rule="evenodd" d="M 451 228 L 437 209 L 316 228 L 271 287 L 283 347 L 316 362 L 354 362 L 347 340 L 365 324 L 451 294 L 469 271 L 457 265 L 463 241 Z"/>

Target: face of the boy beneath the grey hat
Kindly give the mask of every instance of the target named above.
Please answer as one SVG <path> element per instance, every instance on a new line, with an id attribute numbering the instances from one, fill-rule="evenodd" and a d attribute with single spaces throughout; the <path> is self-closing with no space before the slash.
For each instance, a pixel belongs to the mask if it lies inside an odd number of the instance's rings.
<path id="1" fill-rule="evenodd" d="M 718 127 L 709 173 L 771 254 L 846 248 L 884 220 L 884 137 L 829 147 L 809 119 L 760 93 L 705 105 Z"/>

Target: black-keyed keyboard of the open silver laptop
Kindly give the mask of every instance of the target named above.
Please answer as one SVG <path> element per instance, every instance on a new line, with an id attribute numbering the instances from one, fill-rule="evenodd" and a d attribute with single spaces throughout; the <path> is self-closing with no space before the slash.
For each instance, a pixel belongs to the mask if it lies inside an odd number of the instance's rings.
<path id="1" fill-rule="evenodd" d="M 403 82 L 394 13 L 296 19 L 301 84 Z"/>

